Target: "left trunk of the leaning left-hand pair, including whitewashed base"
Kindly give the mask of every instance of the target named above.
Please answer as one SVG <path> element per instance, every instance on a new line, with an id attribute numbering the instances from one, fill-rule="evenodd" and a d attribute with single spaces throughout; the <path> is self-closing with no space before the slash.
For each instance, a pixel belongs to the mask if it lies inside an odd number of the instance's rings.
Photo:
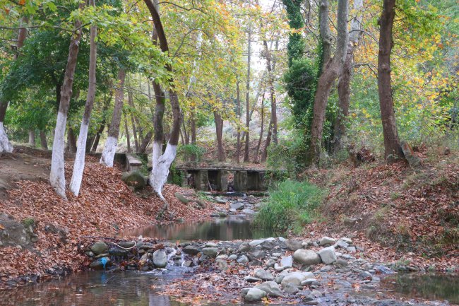
<path id="1" fill-rule="evenodd" d="M 80 10 L 84 4 L 80 4 Z M 66 199 L 66 178 L 64 173 L 64 136 L 67 124 L 68 107 L 72 96 L 73 74 L 76 68 L 78 57 L 78 46 L 81 40 L 81 21 L 75 22 L 76 33 L 73 33 L 68 47 L 68 59 L 64 74 L 64 83 L 61 88 L 61 100 L 59 112 L 57 113 L 56 129 L 54 130 L 54 141 L 52 143 L 51 172 L 49 182 L 59 196 Z"/>

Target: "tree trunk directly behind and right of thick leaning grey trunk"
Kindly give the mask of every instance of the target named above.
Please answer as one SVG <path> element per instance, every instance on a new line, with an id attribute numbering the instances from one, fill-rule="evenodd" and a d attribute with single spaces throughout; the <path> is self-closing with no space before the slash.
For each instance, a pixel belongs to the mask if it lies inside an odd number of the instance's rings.
<path id="1" fill-rule="evenodd" d="M 359 43 L 359 38 L 362 36 L 360 31 L 362 24 L 362 0 L 354 0 L 354 11 L 357 12 L 357 16 L 351 20 L 351 30 L 349 34 L 349 42 L 347 44 L 347 53 L 345 62 L 342 65 L 340 78 L 338 79 L 338 108 L 339 112 L 336 116 L 335 127 L 334 127 L 334 139 L 333 139 L 333 151 L 336 153 L 342 148 L 341 139 L 345 134 L 346 126 L 345 119 L 349 114 L 349 102 L 350 102 L 350 81 L 352 78 L 353 70 L 353 57 L 354 49 Z"/>

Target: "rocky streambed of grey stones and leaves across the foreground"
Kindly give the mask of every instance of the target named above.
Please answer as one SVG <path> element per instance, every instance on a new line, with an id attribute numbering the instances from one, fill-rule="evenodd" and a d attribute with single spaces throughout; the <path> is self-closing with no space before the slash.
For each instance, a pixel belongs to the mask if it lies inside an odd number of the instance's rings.
<path id="1" fill-rule="evenodd" d="M 90 267 L 107 273 L 152 271 L 176 276 L 179 279 L 168 282 L 162 293 L 184 302 L 199 298 L 222 304 L 410 305 L 381 286 L 381 279 L 395 273 L 394 267 L 370 262 L 364 253 L 349 237 L 176 244 L 141 239 L 95 242 L 86 251 Z"/>

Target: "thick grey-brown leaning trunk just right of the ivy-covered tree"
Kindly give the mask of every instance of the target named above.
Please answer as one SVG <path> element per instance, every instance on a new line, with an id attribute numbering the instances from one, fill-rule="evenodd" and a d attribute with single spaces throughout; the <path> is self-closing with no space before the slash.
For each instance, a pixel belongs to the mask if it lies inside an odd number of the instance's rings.
<path id="1" fill-rule="evenodd" d="M 326 0 L 322 1 L 321 6 L 323 6 L 324 3 L 326 3 Z M 323 69 L 321 73 L 321 76 L 318 78 L 316 95 L 314 97 L 311 143 L 309 144 L 308 160 L 306 160 L 309 165 L 318 165 L 320 161 L 323 122 L 325 120 L 328 95 L 330 93 L 333 82 L 340 73 L 340 69 L 342 67 L 342 63 L 345 60 L 345 55 L 347 52 L 347 40 L 349 35 L 347 32 L 347 15 L 347 0 L 338 0 L 338 39 L 336 42 L 336 52 L 333 59 L 328 61 L 325 69 Z M 328 19 L 326 22 L 328 23 Z M 323 20 L 321 20 L 321 23 L 323 23 Z M 323 28 L 322 25 L 321 28 Z"/>

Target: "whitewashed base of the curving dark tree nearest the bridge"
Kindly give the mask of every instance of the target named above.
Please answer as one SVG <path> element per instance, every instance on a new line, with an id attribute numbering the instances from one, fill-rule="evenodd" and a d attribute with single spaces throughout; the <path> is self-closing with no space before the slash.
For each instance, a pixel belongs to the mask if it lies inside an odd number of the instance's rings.
<path id="1" fill-rule="evenodd" d="M 166 151 L 160 156 L 157 160 L 157 164 L 151 170 L 150 175 L 150 186 L 153 187 L 153 191 L 160 196 L 160 199 L 165 201 L 164 196 L 162 196 L 162 187 L 167 182 L 167 175 L 169 175 L 169 167 L 177 155 L 177 146 L 167 143 Z"/>

